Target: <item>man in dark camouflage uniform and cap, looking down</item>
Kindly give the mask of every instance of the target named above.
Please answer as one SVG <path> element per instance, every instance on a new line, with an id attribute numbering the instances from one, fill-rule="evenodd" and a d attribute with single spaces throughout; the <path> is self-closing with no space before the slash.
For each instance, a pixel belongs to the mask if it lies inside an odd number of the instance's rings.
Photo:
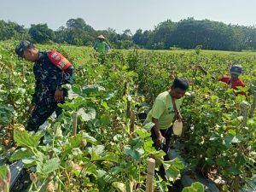
<path id="1" fill-rule="evenodd" d="M 40 125 L 55 112 L 61 114 L 58 103 L 64 102 L 67 90 L 61 86 L 73 83 L 73 67 L 67 67 L 61 71 L 56 67 L 47 55 L 47 51 L 36 49 L 33 44 L 22 40 L 15 49 L 19 59 L 34 62 L 33 73 L 36 79 L 35 92 L 30 105 L 31 117 L 28 119 L 26 130 L 38 131 Z"/>

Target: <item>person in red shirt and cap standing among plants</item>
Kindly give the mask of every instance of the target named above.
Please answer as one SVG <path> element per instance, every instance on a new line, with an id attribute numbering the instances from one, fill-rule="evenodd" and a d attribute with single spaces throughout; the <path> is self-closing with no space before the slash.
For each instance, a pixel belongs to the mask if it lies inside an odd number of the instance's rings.
<path id="1" fill-rule="evenodd" d="M 196 66 L 196 68 L 200 69 L 202 73 L 204 74 L 208 74 L 207 71 L 201 67 L 201 66 Z M 241 75 L 241 72 L 242 72 L 242 67 L 241 65 L 234 65 L 230 68 L 230 76 L 224 76 L 224 77 L 219 77 L 218 78 L 218 81 L 222 81 L 224 82 L 225 84 L 228 84 L 230 85 L 230 87 L 233 89 L 233 90 L 237 90 L 237 87 L 238 86 L 241 86 L 241 87 L 246 87 L 246 84 L 244 82 L 242 82 L 241 79 L 239 79 L 239 75 Z M 212 77 L 212 79 L 215 79 L 214 77 Z M 244 91 L 241 91 L 241 92 L 237 92 L 236 93 L 236 96 L 238 94 L 241 94 L 241 95 L 244 95 L 246 96 L 246 93 Z"/>

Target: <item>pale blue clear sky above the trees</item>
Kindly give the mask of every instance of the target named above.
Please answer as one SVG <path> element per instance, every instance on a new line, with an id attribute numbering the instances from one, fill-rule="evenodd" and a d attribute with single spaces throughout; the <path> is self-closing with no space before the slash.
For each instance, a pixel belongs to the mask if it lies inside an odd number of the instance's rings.
<path id="1" fill-rule="evenodd" d="M 56 30 L 69 19 L 82 18 L 96 30 L 152 30 L 165 20 L 215 20 L 256 26 L 256 0 L 0 0 L 0 20 L 19 25 L 47 23 Z"/>

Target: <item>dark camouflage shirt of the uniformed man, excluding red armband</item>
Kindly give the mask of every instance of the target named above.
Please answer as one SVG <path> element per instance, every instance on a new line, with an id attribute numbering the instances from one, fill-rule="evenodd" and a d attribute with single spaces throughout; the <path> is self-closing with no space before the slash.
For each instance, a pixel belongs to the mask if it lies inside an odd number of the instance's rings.
<path id="1" fill-rule="evenodd" d="M 36 79 L 35 93 L 32 103 L 54 102 L 55 90 L 62 84 L 73 84 L 73 67 L 68 67 L 64 72 L 49 61 L 47 51 L 39 50 L 38 61 L 34 63 L 33 73 Z M 67 91 L 64 91 L 67 96 Z"/>

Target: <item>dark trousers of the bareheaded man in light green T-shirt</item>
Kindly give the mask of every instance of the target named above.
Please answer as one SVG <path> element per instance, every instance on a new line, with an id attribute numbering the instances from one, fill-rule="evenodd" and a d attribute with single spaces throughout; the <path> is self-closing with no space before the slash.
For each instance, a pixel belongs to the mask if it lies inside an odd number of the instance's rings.
<path id="1" fill-rule="evenodd" d="M 170 127 L 167 130 L 160 130 L 160 132 L 161 132 L 163 137 L 166 137 L 166 144 L 163 145 L 163 148 L 159 148 L 159 146 L 156 143 L 156 138 L 157 137 L 156 137 L 156 135 L 154 133 L 154 129 L 152 128 L 151 129 L 151 138 L 152 138 L 152 140 L 154 142 L 153 146 L 157 150 L 162 149 L 166 153 L 166 155 L 164 156 L 164 160 L 170 160 L 169 156 L 168 156 L 168 150 L 170 148 L 170 143 L 171 143 L 171 140 L 172 140 L 172 127 Z M 162 177 L 163 180 L 166 180 L 165 175 L 166 175 L 166 172 L 165 172 L 164 166 L 161 165 L 160 166 L 160 177 Z"/>

